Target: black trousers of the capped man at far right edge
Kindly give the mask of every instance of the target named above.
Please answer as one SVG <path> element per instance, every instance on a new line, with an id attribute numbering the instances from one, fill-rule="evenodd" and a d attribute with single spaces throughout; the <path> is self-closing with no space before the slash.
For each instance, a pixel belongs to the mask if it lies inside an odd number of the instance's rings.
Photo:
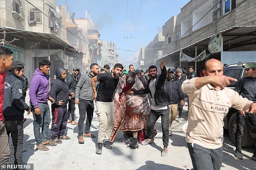
<path id="1" fill-rule="evenodd" d="M 254 127 L 256 131 L 256 115 L 252 113 L 245 113 L 246 116 L 241 115 L 239 112 L 237 114 L 237 130 L 235 132 L 235 147 L 237 150 L 241 150 L 241 138 L 243 136 L 243 128 L 246 120 L 248 120 Z M 254 152 L 256 152 L 256 140 L 254 142 Z"/>

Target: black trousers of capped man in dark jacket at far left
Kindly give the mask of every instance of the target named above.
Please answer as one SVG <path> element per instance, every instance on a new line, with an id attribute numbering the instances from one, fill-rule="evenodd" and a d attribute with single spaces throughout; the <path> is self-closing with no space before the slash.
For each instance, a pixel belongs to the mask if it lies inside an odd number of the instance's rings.
<path id="1" fill-rule="evenodd" d="M 13 121 L 4 121 L 8 137 L 13 139 L 14 164 L 23 164 L 23 124 L 22 119 Z"/>

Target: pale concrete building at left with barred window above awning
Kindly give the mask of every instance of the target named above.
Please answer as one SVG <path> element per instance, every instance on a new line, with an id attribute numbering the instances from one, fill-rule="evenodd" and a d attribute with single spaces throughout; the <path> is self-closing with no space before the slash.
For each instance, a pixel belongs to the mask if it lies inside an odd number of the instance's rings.
<path id="1" fill-rule="evenodd" d="M 15 60 L 25 63 L 25 76 L 29 81 L 42 58 L 52 63 L 50 77 L 53 79 L 55 68 L 65 67 L 65 51 L 73 54 L 76 51 L 61 39 L 61 11 L 55 0 L 29 2 L 0 0 L 0 41 L 13 50 Z M 3 31 L 6 31 L 5 39 Z"/>

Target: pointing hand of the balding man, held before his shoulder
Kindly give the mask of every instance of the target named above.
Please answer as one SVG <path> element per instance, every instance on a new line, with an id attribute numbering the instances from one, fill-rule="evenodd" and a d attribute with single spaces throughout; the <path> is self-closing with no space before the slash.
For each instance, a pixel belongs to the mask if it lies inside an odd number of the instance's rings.
<path id="1" fill-rule="evenodd" d="M 237 82 L 237 79 L 232 78 L 232 77 L 228 77 L 228 76 L 224 76 L 224 75 L 217 75 L 217 76 L 211 76 L 211 82 L 210 84 L 213 84 L 214 86 L 218 86 L 221 89 L 224 89 L 225 87 L 227 87 L 230 82 Z"/>

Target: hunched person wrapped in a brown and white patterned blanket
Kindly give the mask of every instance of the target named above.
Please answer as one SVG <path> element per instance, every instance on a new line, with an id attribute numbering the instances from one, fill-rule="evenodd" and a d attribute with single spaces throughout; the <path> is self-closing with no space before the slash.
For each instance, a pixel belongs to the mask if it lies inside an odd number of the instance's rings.
<path id="1" fill-rule="evenodd" d="M 130 148 L 138 148 L 137 139 L 142 142 L 147 136 L 147 121 L 150 106 L 147 94 L 131 95 L 129 90 L 144 89 L 141 81 L 136 78 L 134 72 L 128 72 L 118 82 L 113 94 L 114 122 L 110 141 L 114 141 L 120 129 L 124 132 L 125 139 L 122 140 Z M 154 129 L 154 136 L 156 129 Z"/>

